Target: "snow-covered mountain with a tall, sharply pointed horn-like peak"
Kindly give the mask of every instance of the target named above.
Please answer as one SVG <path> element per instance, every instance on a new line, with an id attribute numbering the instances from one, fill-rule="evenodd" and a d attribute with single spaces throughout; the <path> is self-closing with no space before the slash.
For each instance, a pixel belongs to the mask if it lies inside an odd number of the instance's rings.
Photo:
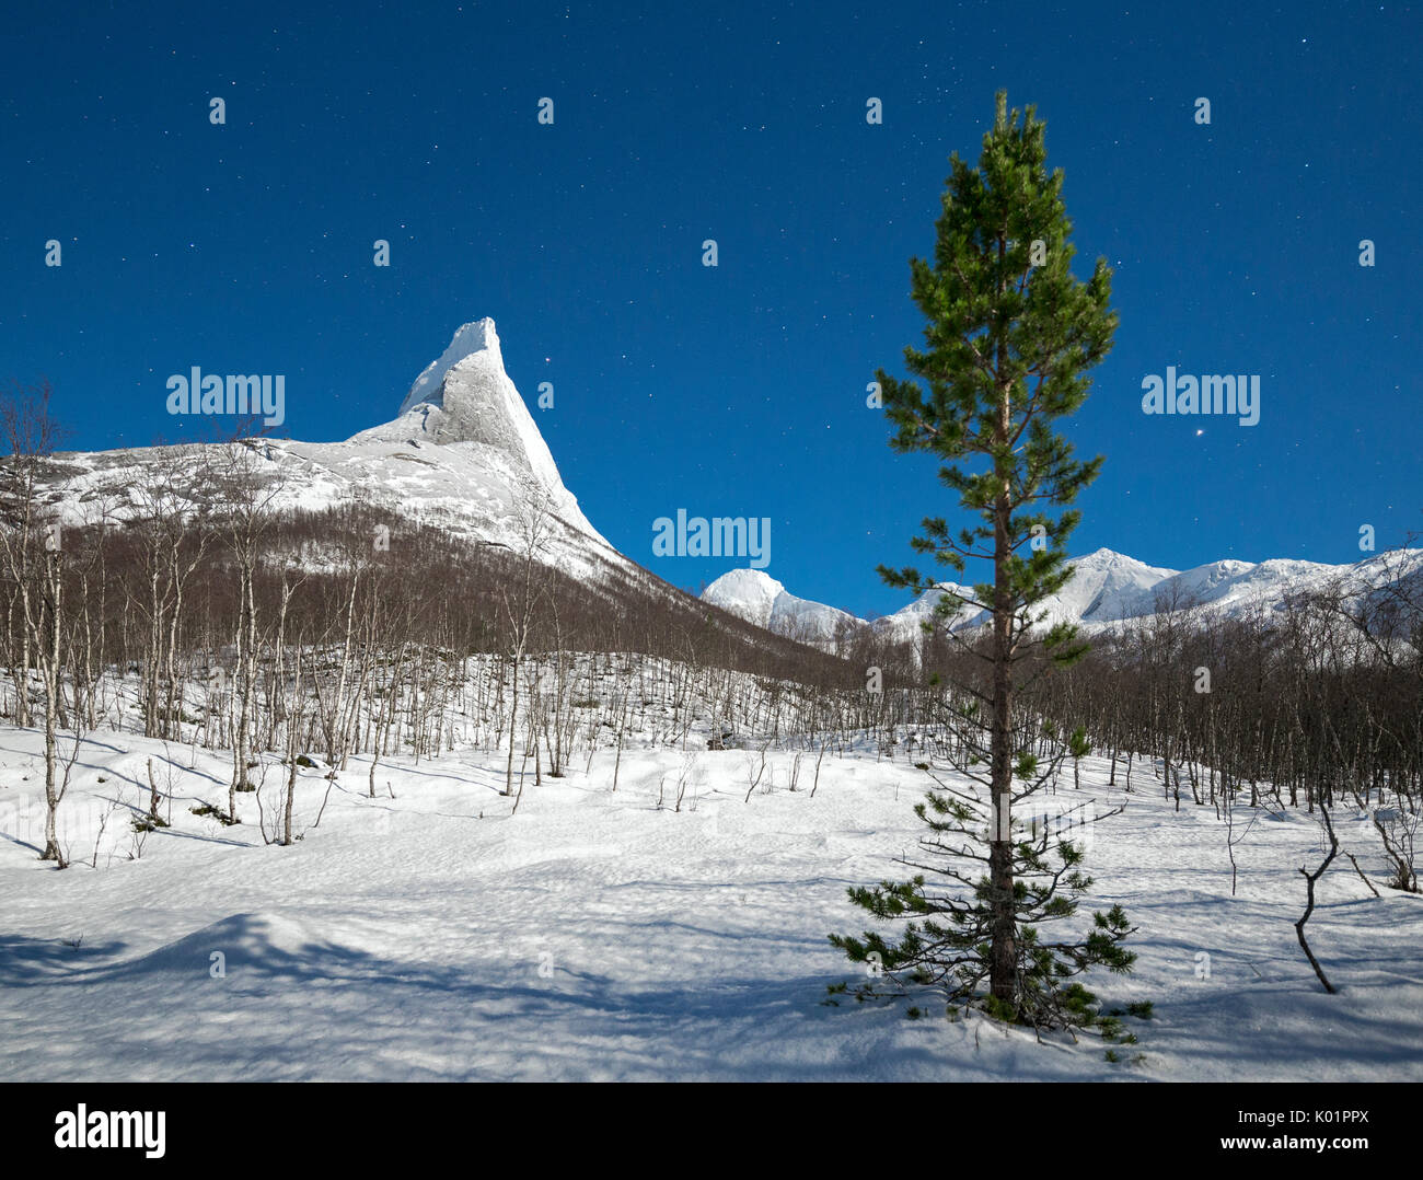
<path id="1" fill-rule="evenodd" d="M 657 653 L 669 636 L 680 643 L 696 635 L 729 668 L 817 678 L 838 670 L 822 652 L 700 604 L 593 528 L 504 369 L 491 319 L 455 330 L 391 421 L 344 441 L 245 438 L 55 454 L 41 465 L 38 507 L 65 530 L 102 524 L 122 534 L 127 524 L 172 522 L 179 514 L 191 527 L 206 514 L 221 531 L 226 510 L 246 495 L 290 525 L 265 534 L 269 565 L 295 561 L 312 574 L 346 568 L 364 537 L 379 535 L 353 532 L 354 521 L 384 528 L 384 549 L 403 569 L 424 562 L 435 578 L 453 576 L 448 554 L 472 545 L 477 559 L 458 575 L 474 582 L 457 608 L 501 619 L 498 582 L 522 569 L 529 518 L 544 504 L 548 527 L 534 557 L 545 567 L 539 591 L 564 638 Z M 209 549 L 218 567 L 225 548 Z M 433 581 L 427 592 L 441 588 Z"/>

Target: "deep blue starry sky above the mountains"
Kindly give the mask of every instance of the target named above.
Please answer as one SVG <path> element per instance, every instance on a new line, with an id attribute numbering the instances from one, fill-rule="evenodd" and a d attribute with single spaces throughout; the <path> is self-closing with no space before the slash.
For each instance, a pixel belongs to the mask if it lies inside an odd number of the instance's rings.
<path id="1" fill-rule="evenodd" d="M 770 517 L 793 592 L 894 611 L 875 564 L 955 505 L 864 387 L 919 343 L 908 259 L 1006 87 L 1079 273 L 1116 268 L 1073 549 L 1339 562 L 1360 524 L 1423 527 L 1416 6 L 231 7 L 7 11 L 0 379 L 47 376 L 75 447 L 184 437 L 164 381 L 192 364 L 285 373 L 283 431 L 343 438 L 488 315 L 632 558 L 696 589 L 746 562 L 653 558 L 656 517 Z M 1143 416 L 1168 364 L 1259 373 L 1259 424 Z"/>

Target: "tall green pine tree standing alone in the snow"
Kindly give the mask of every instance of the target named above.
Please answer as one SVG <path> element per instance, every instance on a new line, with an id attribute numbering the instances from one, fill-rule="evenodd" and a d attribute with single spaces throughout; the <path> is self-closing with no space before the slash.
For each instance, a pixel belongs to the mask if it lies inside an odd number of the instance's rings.
<path id="1" fill-rule="evenodd" d="M 901 861 L 933 873 L 949 892 L 931 892 L 922 874 L 851 890 L 877 918 L 911 921 L 895 945 L 878 934 L 831 942 L 899 982 L 941 985 L 951 1001 L 980 995 L 986 981 L 985 1006 L 1005 1019 L 1090 1023 L 1090 994 L 1067 981 L 1096 964 L 1130 969 L 1134 955 L 1118 945 L 1127 918 L 1114 907 L 1094 915 L 1081 939 L 1046 939 L 1039 925 L 1070 918 L 1091 878 L 1081 848 L 1053 840 L 1046 826 L 1023 837 L 1013 804 L 1054 777 L 1069 752 L 1020 692 L 1086 652 L 1074 626 L 1044 628 L 1033 608 L 1072 576 L 1066 539 L 1080 514 L 1067 505 L 1101 467 L 1100 457 L 1074 460 L 1053 424 L 1083 404 L 1087 373 L 1111 347 L 1111 272 L 1099 259 L 1087 282 L 1072 273 L 1063 177 L 1047 172 L 1033 107 L 1020 117 L 1000 91 L 978 168 L 956 154 L 951 168 L 933 260 L 911 262 L 925 347 L 905 349 L 912 379 L 877 376 L 896 428 L 891 446 L 936 455 L 942 483 L 975 521 L 953 532 L 928 518 L 912 547 L 955 572 L 965 558 L 992 562 L 992 582 L 949 591 L 939 604 L 945 619 L 963 606 L 989 619 L 982 633 L 959 638 L 975 672 L 955 686 L 946 717 L 969 783 L 931 771 L 938 789 L 916 807 L 929 828 L 925 855 Z M 879 572 L 915 594 L 935 585 L 914 568 Z M 1047 766 L 1035 753 L 1044 744 L 1057 750 Z"/>

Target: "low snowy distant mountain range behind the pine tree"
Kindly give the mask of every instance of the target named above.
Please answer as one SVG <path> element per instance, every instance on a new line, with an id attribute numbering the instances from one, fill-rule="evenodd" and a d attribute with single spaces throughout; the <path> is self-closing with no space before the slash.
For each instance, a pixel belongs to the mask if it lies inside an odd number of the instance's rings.
<path id="1" fill-rule="evenodd" d="M 1040 609 L 1047 622 L 1074 622 L 1086 631 L 1136 619 L 1158 609 L 1198 605 L 1207 618 L 1241 616 L 1264 609 L 1276 611 L 1289 595 L 1339 585 L 1358 596 L 1403 578 L 1423 578 L 1423 549 L 1375 554 L 1352 565 L 1325 565 L 1312 561 L 1272 559 L 1262 562 L 1214 561 L 1194 569 L 1164 569 L 1111 549 L 1097 549 L 1072 558 L 1074 574 L 1062 594 L 1047 598 Z M 733 615 L 807 642 L 825 645 L 837 635 L 871 628 L 895 642 L 922 633 L 945 591 L 959 589 L 953 582 L 939 582 L 908 606 L 878 619 L 854 615 L 797 598 L 784 585 L 760 569 L 733 569 L 702 592 L 702 599 Z M 972 596 L 972 588 L 963 594 Z M 973 626 L 985 612 L 961 606 L 953 628 Z"/>

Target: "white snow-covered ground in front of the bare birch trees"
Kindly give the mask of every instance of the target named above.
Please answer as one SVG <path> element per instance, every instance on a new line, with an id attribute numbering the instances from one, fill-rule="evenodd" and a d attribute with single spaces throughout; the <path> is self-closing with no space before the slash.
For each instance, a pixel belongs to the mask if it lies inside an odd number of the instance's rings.
<path id="1" fill-rule="evenodd" d="M 149 757 L 174 827 L 131 860 Z M 825 935 L 864 929 L 845 887 L 901 875 L 926 783 L 827 754 L 811 797 L 814 753 L 793 793 L 794 757 L 773 752 L 746 801 L 758 754 L 629 747 L 612 793 L 599 750 L 586 773 L 529 774 L 515 816 L 497 754 L 383 762 L 374 800 L 353 759 L 316 828 L 326 767 L 302 771 L 306 836 L 269 847 L 252 794 L 238 827 L 189 813 L 225 800 L 225 754 L 95 733 L 64 803 L 74 867 L 55 871 L 36 858 L 40 739 L 7 726 L 0 1079 L 1423 1080 L 1423 897 L 1329 873 L 1309 925 L 1326 995 L 1292 927 L 1312 820 L 1262 816 L 1232 897 L 1215 813 L 1174 813 L 1140 764 L 1134 794 L 1120 771 L 1109 793 L 1096 759 L 1084 791 L 1127 810 L 1094 831 L 1094 901 L 1127 908 L 1140 959 L 1089 986 L 1153 1003 L 1121 1050 L 1144 1062 L 1107 1062 L 1094 1036 L 825 1006 L 854 972 Z"/>

